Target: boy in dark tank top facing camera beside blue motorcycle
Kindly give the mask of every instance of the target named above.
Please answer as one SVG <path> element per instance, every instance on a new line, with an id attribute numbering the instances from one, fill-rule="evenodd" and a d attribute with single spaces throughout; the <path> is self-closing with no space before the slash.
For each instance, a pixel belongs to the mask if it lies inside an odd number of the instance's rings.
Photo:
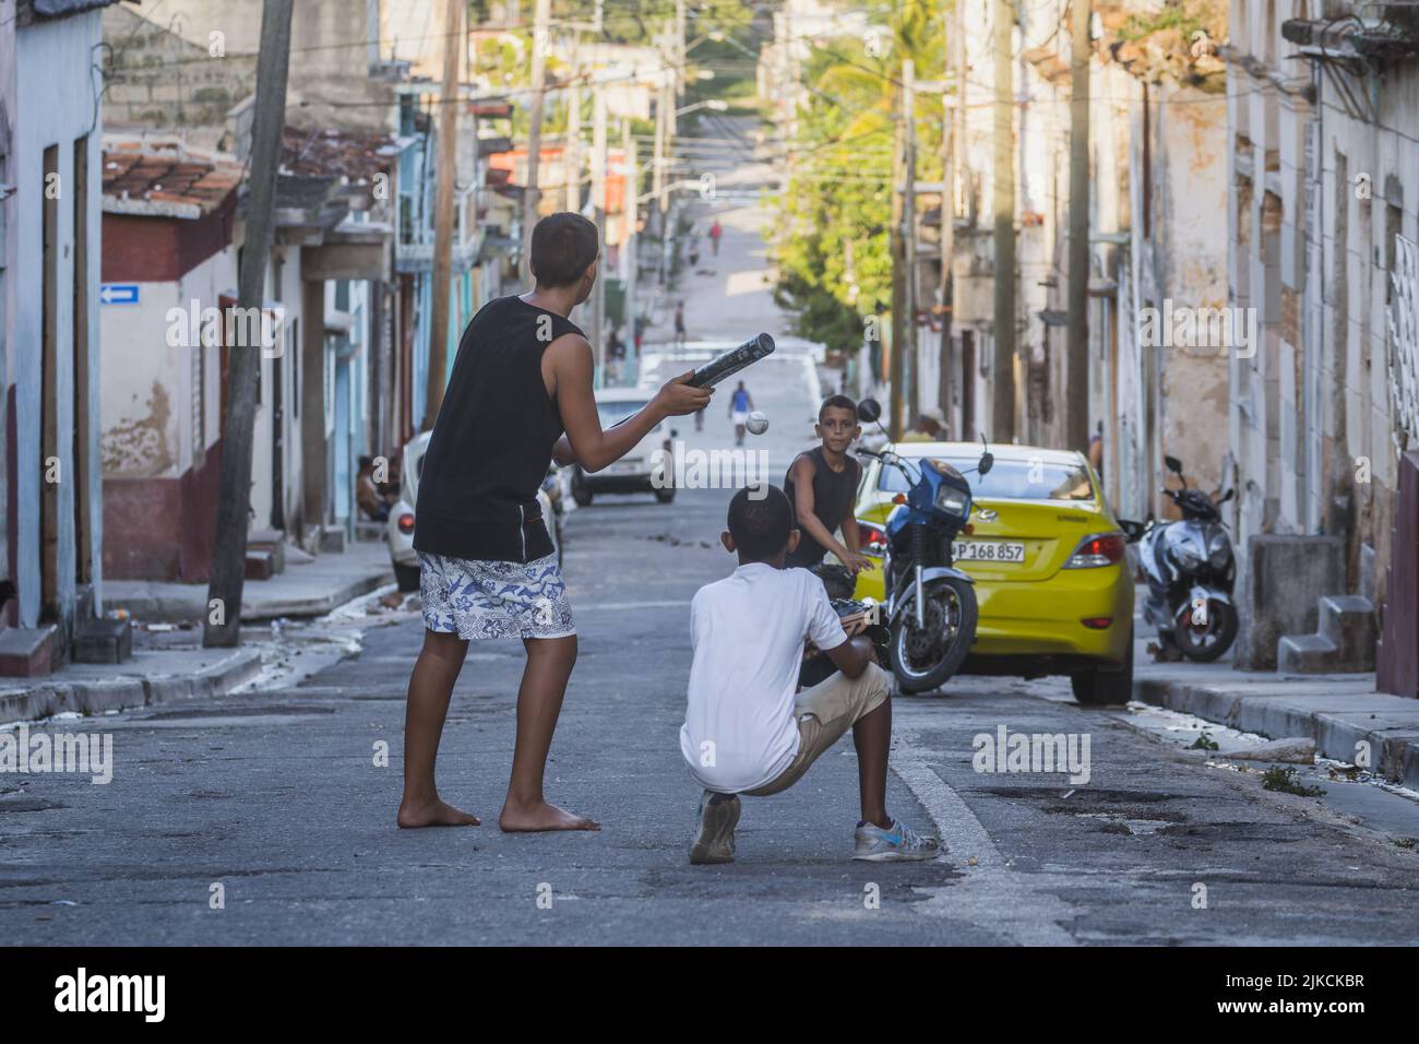
<path id="1" fill-rule="evenodd" d="M 846 395 L 824 399 L 815 428 L 822 445 L 800 453 L 789 466 L 783 491 L 797 514 L 802 534 L 789 553 L 788 565 L 813 567 L 832 551 L 854 575 L 870 562 L 861 554 L 857 533 L 857 483 L 863 469 L 847 447 L 863 433 L 857 423 L 857 405 Z M 841 528 L 839 541 L 833 531 Z"/>

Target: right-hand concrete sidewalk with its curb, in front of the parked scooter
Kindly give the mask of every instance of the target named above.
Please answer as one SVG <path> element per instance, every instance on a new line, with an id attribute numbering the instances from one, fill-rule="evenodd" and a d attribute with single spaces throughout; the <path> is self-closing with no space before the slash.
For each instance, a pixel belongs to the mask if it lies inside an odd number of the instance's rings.
<path id="1" fill-rule="evenodd" d="M 1347 764 L 1368 751 L 1369 771 L 1419 790 L 1419 700 L 1375 692 L 1374 675 L 1147 663 L 1135 668 L 1134 699 L 1270 739 L 1304 736 Z"/>

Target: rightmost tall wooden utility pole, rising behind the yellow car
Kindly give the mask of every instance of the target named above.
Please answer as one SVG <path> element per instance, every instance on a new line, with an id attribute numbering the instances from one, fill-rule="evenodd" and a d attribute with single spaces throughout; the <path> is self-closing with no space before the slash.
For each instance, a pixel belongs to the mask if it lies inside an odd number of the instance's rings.
<path id="1" fill-rule="evenodd" d="M 1088 0 L 1070 0 L 1069 366 L 1066 443 L 1088 449 Z"/>

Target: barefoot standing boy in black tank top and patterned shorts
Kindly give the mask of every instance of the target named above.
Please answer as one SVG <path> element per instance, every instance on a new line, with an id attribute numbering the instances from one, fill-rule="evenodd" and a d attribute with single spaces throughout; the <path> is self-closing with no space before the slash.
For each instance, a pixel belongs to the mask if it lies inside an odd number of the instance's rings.
<path id="1" fill-rule="evenodd" d="M 498 825 L 599 830 L 542 795 L 548 749 L 576 662 L 576 626 L 536 490 L 553 459 L 599 472 L 667 416 L 704 409 L 711 393 L 687 385 L 690 374 L 683 374 L 633 418 L 602 430 L 592 347 L 568 320 L 590 297 L 599 246 L 596 226 L 580 214 L 543 217 L 532 230 L 536 286 L 490 301 L 458 342 L 414 507 L 424 646 L 409 679 L 400 827 L 478 825 L 477 817 L 438 797 L 438 737 L 468 642 L 521 638 L 528 663 Z"/>

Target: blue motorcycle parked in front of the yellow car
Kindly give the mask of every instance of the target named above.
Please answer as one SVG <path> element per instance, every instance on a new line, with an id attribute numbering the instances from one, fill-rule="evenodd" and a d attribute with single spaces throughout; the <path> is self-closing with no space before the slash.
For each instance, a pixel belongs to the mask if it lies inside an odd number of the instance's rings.
<path id="1" fill-rule="evenodd" d="M 857 412 L 873 423 L 881 406 L 863 399 Z M 961 669 L 975 642 L 975 581 L 951 553 L 971 517 L 971 484 L 945 460 L 908 460 L 891 450 L 858 455 L 897 469 L 908 484 L 887 518 L 887 651 L 904 693 L 929 692 Z M 986 474 L 993 464 L 985 449 L 975 472 Z"/>

